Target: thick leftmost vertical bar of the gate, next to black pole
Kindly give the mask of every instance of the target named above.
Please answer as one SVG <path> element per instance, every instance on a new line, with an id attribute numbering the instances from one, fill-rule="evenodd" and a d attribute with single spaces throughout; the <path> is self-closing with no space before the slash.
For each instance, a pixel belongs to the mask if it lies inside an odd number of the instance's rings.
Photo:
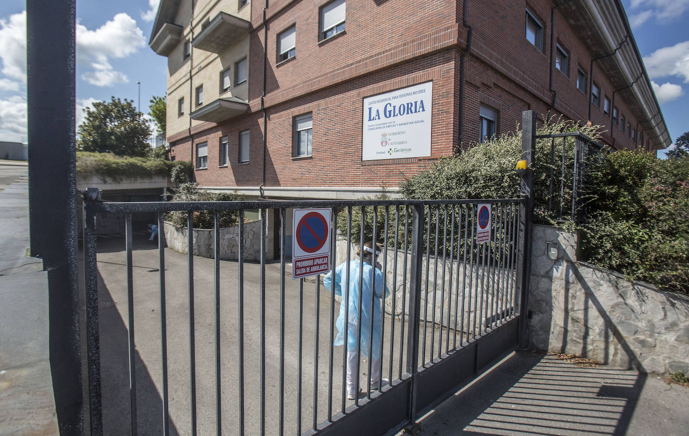
<path id="1" fill-rule="evenodd" d="M 96 214 L 84 201 L 84 276 L 86 304 L 86 362 L 88 365 L 91 434 L 103 434 L 101 400 L 101 343 L 98 322 L 98 266 L 96 264 Z"/>

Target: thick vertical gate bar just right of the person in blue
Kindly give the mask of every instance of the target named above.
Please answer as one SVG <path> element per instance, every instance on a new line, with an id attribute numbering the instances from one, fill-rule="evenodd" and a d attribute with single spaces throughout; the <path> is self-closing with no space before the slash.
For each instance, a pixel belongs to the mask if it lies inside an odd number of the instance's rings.
<path id="1" fill-rule="evenodd" d="M 407 343 L 407 373 L 412 375 L 411 395 L 409 395 L 409 422 L 416 420 L 416 383 L 419 372 L 419 324 L 421 304 L 421 269 L 423 247 L 424 202 L 412 206 L 411 220 L 411 281 L 409 283 L 409 335 Z M 405 238 L 406 240 L 406 238 Z M 424 320 L 425 323 L 425 320 Z"/>

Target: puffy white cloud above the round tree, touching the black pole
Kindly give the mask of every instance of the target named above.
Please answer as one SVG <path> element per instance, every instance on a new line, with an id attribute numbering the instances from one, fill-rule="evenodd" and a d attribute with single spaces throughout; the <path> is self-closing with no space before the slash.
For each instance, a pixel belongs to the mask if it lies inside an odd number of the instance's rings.
<path id="1" fill-rule="evenodd" d="M 85 25 L 77 23 L 76 59 L 79 63 L 88 63 L 92 68 L 81 74 L 81 79 L 96 86 L 127 83 L 127 76 L 115 71 L 109 60 L 134 54 L 145 43 L 136 21 L 124 13 L 116 14 L 96 30 L 88 30 Z"/>

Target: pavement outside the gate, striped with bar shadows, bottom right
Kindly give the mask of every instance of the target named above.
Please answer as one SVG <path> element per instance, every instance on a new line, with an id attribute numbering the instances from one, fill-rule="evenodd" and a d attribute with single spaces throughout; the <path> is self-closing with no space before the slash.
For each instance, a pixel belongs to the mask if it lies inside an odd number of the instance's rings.
<path id="1" fill-rule="evenodd" d="M 513 353 L 400 435 L 689 434 L 689 388 L 586 366 Z"/>

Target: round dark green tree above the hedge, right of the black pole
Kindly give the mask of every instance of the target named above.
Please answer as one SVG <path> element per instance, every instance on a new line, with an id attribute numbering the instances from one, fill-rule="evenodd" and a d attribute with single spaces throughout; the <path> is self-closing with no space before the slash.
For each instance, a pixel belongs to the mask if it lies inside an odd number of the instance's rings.
<path id="1" fill-rule="evenodd" d="M 83 152 L 112 153 L 118 156 L 147 156 L 151 129 L 132 100 L 112 97 L 108 103 L 96 101 L 87 107 L 79 125 L 77 148 Z"/>

